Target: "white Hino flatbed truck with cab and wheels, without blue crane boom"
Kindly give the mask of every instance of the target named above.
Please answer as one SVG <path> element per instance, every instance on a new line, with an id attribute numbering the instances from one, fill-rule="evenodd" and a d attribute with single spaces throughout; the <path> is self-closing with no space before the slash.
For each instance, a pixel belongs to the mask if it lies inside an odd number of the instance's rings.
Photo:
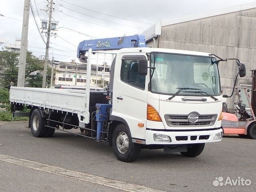
<path id="1" fill-rule="evenodd" d="M 87 74 L 93 53 L 88 49 Z M 13 112 L 31 108 L 35 137 L 79 128 L 79 135 L 109 142 L 123 162 L 135 160 L 141 149 L 195 157 L 205 143 L 222 139 L 222 60 L 227 59 L 203 52 L 122 48 L 111 65 L 108 92 L 90 91 L 88 75 L 85 91 L 11 87 L 10 101 Z M 245 65 L 237 65 L 245 76 Z"/>

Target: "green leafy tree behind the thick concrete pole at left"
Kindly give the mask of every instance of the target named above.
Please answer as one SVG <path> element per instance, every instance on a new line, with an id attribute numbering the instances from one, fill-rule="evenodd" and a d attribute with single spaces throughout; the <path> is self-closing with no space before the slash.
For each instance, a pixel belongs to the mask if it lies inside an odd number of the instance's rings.
<path id="1" fill-rule="evenodd" d="M 13 52 L 8 48 L 0 51 L 0 83 L 4 87 L 8 87 L 10 82 L 17 86 L 18 71 L 19 71 L 20 54 Z M 36 58 L 32 52 L 26 54 L 26 72 L 25 78 L 31 78 L 31 73 L 34 71 L 42 71 L 44 62 Z M 37 77 L 38 80 L 40 78 Z"/>

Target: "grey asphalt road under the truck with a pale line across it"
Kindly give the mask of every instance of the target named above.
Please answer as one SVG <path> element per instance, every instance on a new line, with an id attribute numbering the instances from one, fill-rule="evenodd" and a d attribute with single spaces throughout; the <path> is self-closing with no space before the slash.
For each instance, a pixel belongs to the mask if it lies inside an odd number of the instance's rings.
<path id="1" fill-rule="evenodd" d="M 60 131 L 35 138 L 27 125 L 0 125 L 0 192 L 118 192 L 129 191 L 127 186 L 135 191 L 256 191 L 256 140 L 225 137 L 206 144 L 194 158 L 144 149 L 135 162 L 124 163 L 108 143 Z M 222 182 L 214 181 L 219 177 Z M 242 186 L 242 178 L 251 184 Z"/>

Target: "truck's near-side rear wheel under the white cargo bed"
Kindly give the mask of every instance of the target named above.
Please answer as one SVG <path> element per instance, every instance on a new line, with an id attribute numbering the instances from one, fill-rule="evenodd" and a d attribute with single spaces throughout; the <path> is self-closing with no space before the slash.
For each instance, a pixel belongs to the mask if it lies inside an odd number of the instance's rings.
<path id="1" fill-rule="evenodd" d="M 47 127 L 46 118 L 42 118 L 41 113 L 38 109 L 33 110 L 30 118 L 31 133 L 34 137 L 46 136 Z"/>

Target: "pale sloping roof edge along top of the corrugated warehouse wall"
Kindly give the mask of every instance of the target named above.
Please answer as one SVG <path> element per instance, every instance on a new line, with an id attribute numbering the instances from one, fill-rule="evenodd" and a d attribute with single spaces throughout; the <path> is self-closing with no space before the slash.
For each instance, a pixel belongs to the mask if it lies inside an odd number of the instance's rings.
<path id="1" fill-rule="evenodd" d="M 142 32 L 142 35 L 145 35 L 145 40 L 148 41 L 148 40 L 152 39 L 153 37 L 157 37 L 157 35 L 161 35 L 161 27 L 162 26 L 168 26 L 168 25 L 172 25 L 172 24 L 178 24 L 178 23 L 182 23 L 182 22 L 193 21 L 196 19 L 213 17 L 216 15 L 223 15 L 226 13 L 233 13 L 236 11 L 243 11 L 243 10 L 253 9 L 253 8 L 256 8 L 256 2 L 251 2 L 251 3 L 236 5 L 236 6 L 230 6 L 230 7 L 224 7 L 221 9 L 212 9 L 211 11 L 207 11 L 205 13 L 196 13 L 193 15 L 184 15 L 183 17 L 174 17 L 172 19 L 160 20 L 160 21 L 156 22 L 154 25 L 150 26 L 144 32 Z"/>

